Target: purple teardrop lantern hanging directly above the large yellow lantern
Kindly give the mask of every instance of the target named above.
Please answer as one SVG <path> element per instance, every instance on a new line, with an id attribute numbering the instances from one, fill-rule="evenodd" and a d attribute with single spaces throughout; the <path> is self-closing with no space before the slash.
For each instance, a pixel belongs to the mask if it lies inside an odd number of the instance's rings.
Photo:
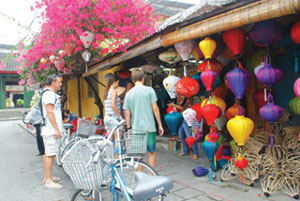
<path id="1" fill-rule="evenodd" d="M 226 75 L 227 83 L 236 99 L 242 99 L 251 77 L 250 73 L 241 68 L 234 68 Z"/>

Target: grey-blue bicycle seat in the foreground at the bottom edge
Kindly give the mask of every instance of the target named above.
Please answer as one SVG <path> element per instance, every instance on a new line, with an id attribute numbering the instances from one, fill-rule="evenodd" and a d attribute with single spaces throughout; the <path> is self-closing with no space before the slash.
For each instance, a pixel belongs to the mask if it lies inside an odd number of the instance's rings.
<path id="1" fill-rule="evenodd" d="M 165 176 L 150 176 L 143 172 L 135 173 L 136 187 L 133 199 L 147 200 L 164 194 L 173 188 L 173 181 Z"/>

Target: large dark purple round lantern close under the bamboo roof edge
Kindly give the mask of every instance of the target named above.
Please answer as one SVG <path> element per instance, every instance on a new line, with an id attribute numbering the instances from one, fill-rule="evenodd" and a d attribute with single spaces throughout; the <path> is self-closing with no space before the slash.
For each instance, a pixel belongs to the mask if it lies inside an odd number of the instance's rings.
<path id="1" fill-rule="evenodd" d="M 283 38 L 283 28 L 276 20 L 260 21 L 254 24 L 249 35 L 255 45 L 269 47 Z"/>

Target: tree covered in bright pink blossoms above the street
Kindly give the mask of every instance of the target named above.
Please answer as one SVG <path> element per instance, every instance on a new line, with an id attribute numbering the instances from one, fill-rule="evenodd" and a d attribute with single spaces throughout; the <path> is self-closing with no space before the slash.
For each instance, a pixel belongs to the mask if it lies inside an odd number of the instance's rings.
<path id="1" fill-rule="evenodd" d="M 18 73 L 26 85 L 53 73 L 80 73 L 84 59 L 100 61 L 155 31 L 156 16 L 143 0 L 40 0 L 41 31 L 17 47 Z M 88 49 L 89 53 L 83 52 Z M 90 56 L 90 58 L 89 58 Z"/>

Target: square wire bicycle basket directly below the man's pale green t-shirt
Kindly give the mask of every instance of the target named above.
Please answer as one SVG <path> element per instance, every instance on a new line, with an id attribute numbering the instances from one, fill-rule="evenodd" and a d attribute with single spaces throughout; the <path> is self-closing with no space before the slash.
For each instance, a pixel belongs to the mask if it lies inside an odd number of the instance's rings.
<path id="1" fill-rule="evenodd" d="M 125 132 L 125 147 L 128 155 L 145 154 L 147 152 L 148 131 L 129 130 Z"/>

